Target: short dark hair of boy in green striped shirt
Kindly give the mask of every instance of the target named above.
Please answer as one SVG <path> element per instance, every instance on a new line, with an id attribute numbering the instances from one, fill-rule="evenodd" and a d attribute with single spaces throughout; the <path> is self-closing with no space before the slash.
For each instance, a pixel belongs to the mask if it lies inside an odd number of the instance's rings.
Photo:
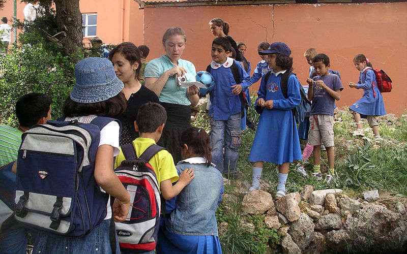
<path id="1" fill-rule="evenodd" d="M 16 103 L 18 122 L 25 128 L 38 123 L 41 117 L 47 117 L 51 107 L 51 98 L 44 93 L 27 93 Z"/>

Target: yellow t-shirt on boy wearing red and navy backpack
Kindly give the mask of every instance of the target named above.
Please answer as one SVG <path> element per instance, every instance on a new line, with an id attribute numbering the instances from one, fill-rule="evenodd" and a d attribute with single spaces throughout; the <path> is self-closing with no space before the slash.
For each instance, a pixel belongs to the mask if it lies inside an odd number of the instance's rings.
<path id="1" fill-rule="evenodd" d="M 133 140 L 133 146 L 136 150 L 137 157 L 139 157 L 149 146 L 155 144 L 156 142 L 150 138 L 136 138 Z M 125 160 L 122 149 L 120 149 L 120 154 L 116 157 L 114 162 L 114 168 L 120 166 L 122 161 Z M 162 181 L 171 179 L 171 182 L 178 181 L 177 169 L 174 165 L 174 160 L 171 154 L 167 150 L 161 150 L 154 155 L 149 161 L 150 165 L 153 167 L 158 181 L 158 187 L 161 191 L 160 183 Z"/>

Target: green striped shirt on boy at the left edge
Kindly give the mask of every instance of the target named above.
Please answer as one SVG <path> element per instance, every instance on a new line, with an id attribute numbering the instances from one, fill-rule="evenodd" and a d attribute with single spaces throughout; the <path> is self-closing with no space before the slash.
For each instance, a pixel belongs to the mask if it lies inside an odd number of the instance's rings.
<path id="1" fill-rule="evenodd" d="M 21 134 L 16 128 L 0 125 L 0 166 L 17 160 Z"/>

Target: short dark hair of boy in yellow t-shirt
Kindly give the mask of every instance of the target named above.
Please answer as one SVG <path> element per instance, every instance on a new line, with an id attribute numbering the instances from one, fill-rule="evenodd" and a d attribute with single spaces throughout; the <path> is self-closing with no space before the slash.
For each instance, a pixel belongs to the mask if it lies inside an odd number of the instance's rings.
<path id="1" fill-rule="evenodd" d="M 160 104 L 148 102 L 138 109 L 136 121 L 139 133 L 153 133 L 167 121 L 167 112 Z"/>

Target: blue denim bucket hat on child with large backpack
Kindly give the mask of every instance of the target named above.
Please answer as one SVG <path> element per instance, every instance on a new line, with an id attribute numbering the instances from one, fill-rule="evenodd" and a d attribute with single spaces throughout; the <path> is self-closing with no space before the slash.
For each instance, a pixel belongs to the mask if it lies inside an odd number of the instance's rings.
<path id="1" fill-rule="evenodd" d="M 69 97 L 79 103 L 106 101 L 124 87 L 114 73 L 111 61 L 104 57 L 88 57 L 76 63 L 75 80 Z"/>

